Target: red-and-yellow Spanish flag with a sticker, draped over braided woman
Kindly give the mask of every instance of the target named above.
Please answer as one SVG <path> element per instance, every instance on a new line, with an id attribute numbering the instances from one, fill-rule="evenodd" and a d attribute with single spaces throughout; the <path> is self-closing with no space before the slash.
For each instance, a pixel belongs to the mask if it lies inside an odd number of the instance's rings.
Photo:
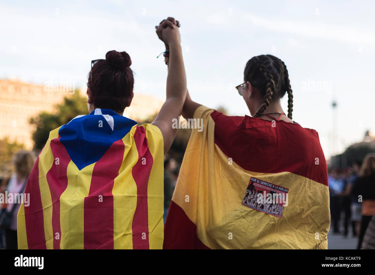
<path id="1" fill-rule="evenodd" d="M 327 248 L 327 164 L 315 130 L 204 106 L 190 123 L 163 248 Z"/>

